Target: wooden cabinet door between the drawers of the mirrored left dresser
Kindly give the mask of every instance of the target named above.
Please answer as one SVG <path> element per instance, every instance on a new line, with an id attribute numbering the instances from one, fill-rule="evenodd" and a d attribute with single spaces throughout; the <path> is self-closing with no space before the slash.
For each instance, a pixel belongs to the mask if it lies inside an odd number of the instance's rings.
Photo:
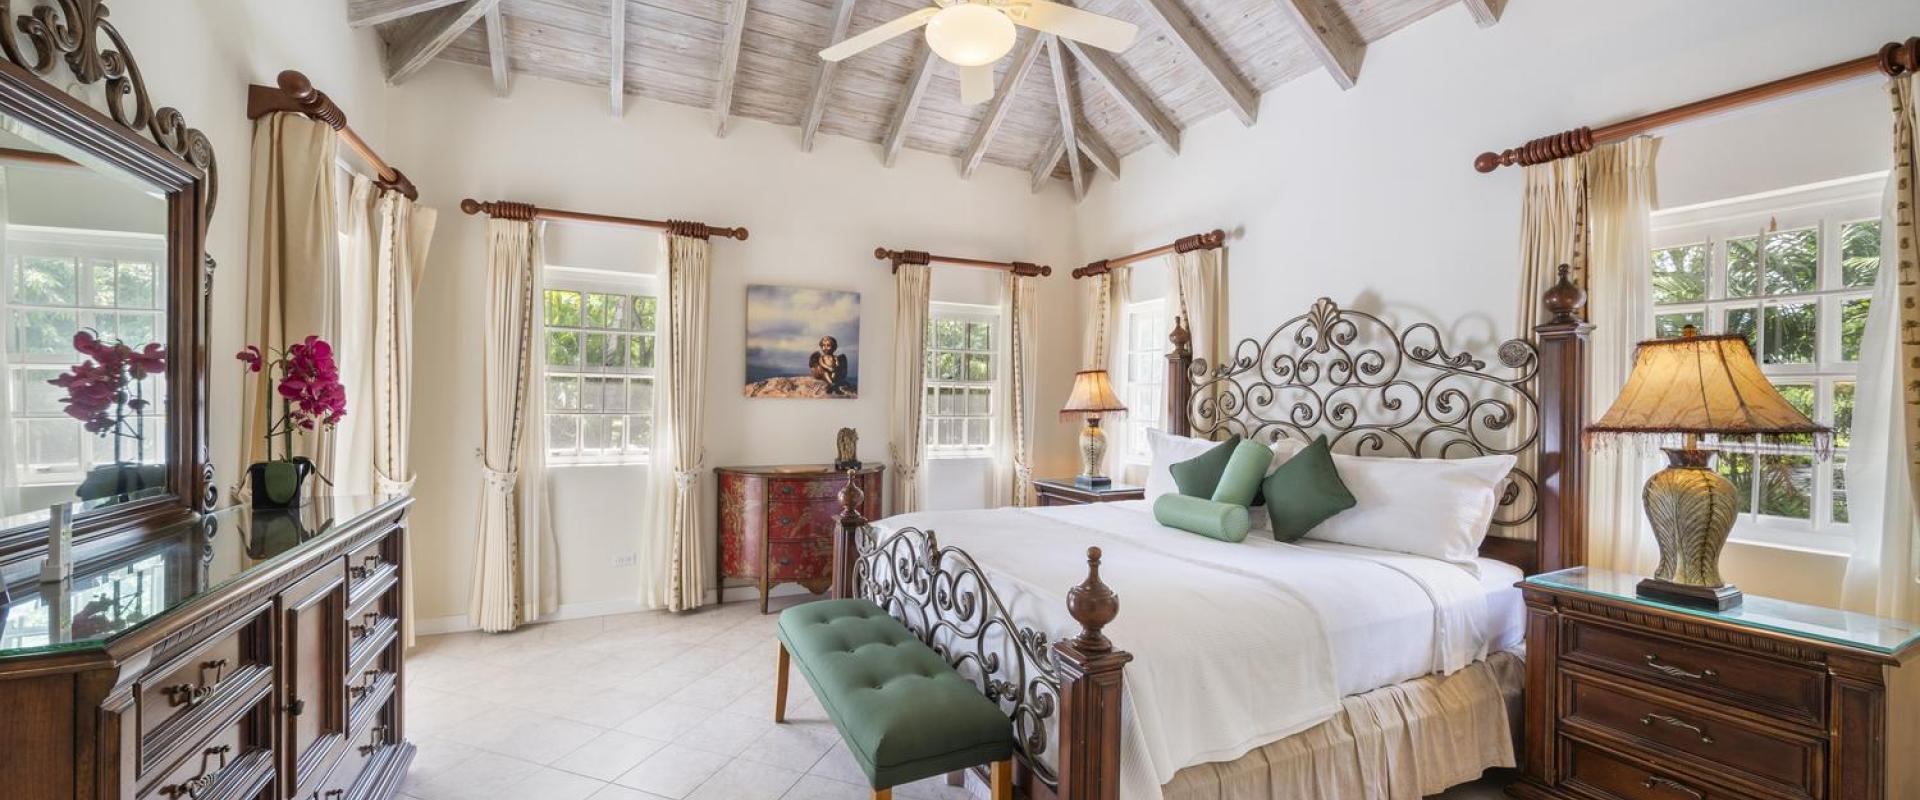
<path id="1" fill-rule="evenodd" d="M 346 750 L 346 562 L 334 558 L 280 593 L 280 712 L 286 796 L 307 798 Z"/>

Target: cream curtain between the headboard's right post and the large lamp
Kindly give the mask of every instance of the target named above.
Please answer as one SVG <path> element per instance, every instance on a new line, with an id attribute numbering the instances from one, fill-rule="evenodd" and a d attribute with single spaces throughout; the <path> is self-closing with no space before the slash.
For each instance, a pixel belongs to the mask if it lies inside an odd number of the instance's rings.
<path id="1" fill-rule="evenodd" d="M 1653 161 L 1659 140 L 1636 136 L 1586 155 L 1586 318 L 1594 322 L 1588 368 L 1590 414 L 1620 395 L 1634 370 L 1634 345 L 1645 330 L 1653 297 L 1642 278 L 1653 224 Z M 1544 309 L 1534 295 L 1534 309 Z M 1586 553 L 1601 570 L 1645 574 L 1657 549 L 1640 506 L 1647 476 L 1659 470 L 1640 447 L 1596 447 L 1588 453 Z"/>

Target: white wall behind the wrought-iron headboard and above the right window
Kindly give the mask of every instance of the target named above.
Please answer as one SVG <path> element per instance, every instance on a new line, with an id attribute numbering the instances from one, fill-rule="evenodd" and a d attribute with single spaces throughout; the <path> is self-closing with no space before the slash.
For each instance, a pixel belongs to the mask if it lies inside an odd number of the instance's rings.
<path id="1" fill-rule="evenodd" d="M 1081 255 L 1227 228 L 1229 332 L 1265 334 L 1329 295 L 1453 328 L 1517 334 L 1521 171 L 1471 161 L 1862 56 L 1920 29 L 1920 4 L 1866 0 L 1513 2 L 1494 29 L 1461 10 L 1367 48 L 1359 86 L 1325 75 L 1187 130 L 1183 153 L 1125 159 L 1079 207 Z M 1885 169 L 1878 81 L 1665 132 L 1661 198 L 1693 203 Z M 1599 332 L 1597 336 L 1605 336 Z M 1828 600 L 1832 558 L 1730 551 L 1749 591 Z M 1791 564 L 1791 566 L 1788 566 Z M 1843 568 L 1843 564 L 1841 564 Z"/>

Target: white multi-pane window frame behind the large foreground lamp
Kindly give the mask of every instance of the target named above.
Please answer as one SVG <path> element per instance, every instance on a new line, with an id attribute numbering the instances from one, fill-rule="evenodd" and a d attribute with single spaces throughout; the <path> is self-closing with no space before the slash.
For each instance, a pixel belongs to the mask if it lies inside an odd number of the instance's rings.
<path id="1" fill-rule="evenodd" d="M 1841 180 L 1795 186 L 1788 190 L 1763 192 L 1745 198 L 1730 198 L 1711 203 L 1663 209 L 1653 213 L 1649 255 L 1642 280 L 1647 290 L 1647 313 L 1634 338 L 1653 338 L 1655 318 L 1676 313 L 1697 313 L 1705 326 L 1703 334 L 1726 332 L 1728 309 L 1755 309 L 1755 343 L 1761 370 L 1776 384 L 1811 384 L 1814 388 L 1814 420 L 1834 422 L 1836 384 L 1853 384 L 1859 378 L 1859 361 L 1841 357 L 1841 309 L 1845 303 L 1870 297 L 1872 286 L 1843 286 L 1841 282 L 1841 230 L 1853 223 L 1878 221 L 1885 173 L 1860 175 Z M 1759 286 L 1749 297 L 1728 297 L 1728 242 L 1755 234 L 1774 234 L 1789 230 L 1818 230 L 1818 284 L 1811 292 L 1766 294 L 1764 269 L 1755 278 Z M 1885 230 L 1882 230 L 1885 236 Z M 1707 299 L 1655 305 L 1651 294 L 1651 253 L 1670 247 L 1707 246 Z M 1764 251 L 1764 238 L 1761 240 Z M 1882 269 L 1889 269 L 1882 265 Z M 1764 361 L 1766 347 L 1766 305 L 1774 303 L 1814 303 L 1816 351 L 1807 365 L 1770 365 Z M 1811 447 L 1759 447 L 1753 443 L 1715 441 L 1716 449 L 1728 453 L 1747 453 L 1755 459 L 1753 497 L 1734 522 L 1734 541 L 1811 549 L 1824 553 L 1851 553 L 1853 533 L 1849 522 L 1836 522 L 1834 516 L 1834 474 L 1845 464 L 1847 449 L 1836 445 L 1834 459 L 1812 459 L 1812 505 L 1809 518 L 1786 518 L 1759 512 L 1759 464 L 1764 455 L 1812 455 Z"/>

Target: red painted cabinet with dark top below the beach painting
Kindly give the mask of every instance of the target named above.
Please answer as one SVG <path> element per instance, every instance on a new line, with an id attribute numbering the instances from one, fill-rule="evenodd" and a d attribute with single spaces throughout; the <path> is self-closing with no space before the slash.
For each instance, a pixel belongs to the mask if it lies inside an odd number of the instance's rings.
<path id="1" fill-rule="evenodd" d="M 879 518 L 881 464 L 856 470 L 866 505 L 860 514 Z M 753 581 L 766 593 L 780 583 L 799 583 L 822 593 L 833 583 L 833 537 L 839 531 L 839 491 L 845 472 L 828 464 L 720 466 L 720 570 L 728 579 Z"/>

